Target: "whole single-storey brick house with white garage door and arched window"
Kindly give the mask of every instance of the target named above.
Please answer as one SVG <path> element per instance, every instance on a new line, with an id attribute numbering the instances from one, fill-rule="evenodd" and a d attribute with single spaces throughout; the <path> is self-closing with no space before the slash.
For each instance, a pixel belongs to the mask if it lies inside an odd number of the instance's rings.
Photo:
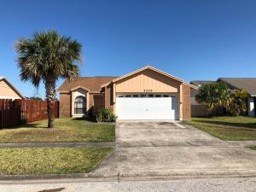
<path id="1" fill-rule="evenodd" d="M 60 116 L 96 115 L 110 108 L 118 119 L 190 119 L 190 90 L 184 82 L 154 67 L 122 77 L 81 77 L 65 81 L 60 92 Z"/>

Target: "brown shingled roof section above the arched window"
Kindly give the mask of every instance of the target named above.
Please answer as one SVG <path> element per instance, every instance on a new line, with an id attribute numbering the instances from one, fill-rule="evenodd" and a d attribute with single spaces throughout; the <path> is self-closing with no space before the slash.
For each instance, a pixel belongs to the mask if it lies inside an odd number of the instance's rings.
<path id="1" fill-rule="evenodd" d="M 79 77 L 69 82 L 64 81 L 63 84 L 58 89 L 58 92 L 70 91 L 76 87 L 82 86 L 90 91 L 97 91 L 101 89 L 102 84 L 107 84 L 108 82 L 116 79 L 117 77 Z"/>

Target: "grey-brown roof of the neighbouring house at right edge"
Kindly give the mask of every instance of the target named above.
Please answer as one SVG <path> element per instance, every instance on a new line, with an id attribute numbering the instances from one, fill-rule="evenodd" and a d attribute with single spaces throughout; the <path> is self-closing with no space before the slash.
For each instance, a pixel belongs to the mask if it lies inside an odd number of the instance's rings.
<path id="1" fill-rule="evenodd" d="M 256 96 L 256 78 L 219 78 L 218 81 L 230 85 L 231 89 L 243 89 L 249 95 Z"/>

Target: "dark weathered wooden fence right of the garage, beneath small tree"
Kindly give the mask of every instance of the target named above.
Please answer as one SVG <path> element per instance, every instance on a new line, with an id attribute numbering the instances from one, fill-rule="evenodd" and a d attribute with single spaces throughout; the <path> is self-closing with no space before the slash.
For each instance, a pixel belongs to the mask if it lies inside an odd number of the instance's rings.
<path id="1" fill-rule="evenodd" d="M 191 117 L 208 117 L 208 116 L 222 116 L 224 115 L 223 108 L 218 108 L 215 110 L 208 110 L 203 105 L 191 105 Z"/>

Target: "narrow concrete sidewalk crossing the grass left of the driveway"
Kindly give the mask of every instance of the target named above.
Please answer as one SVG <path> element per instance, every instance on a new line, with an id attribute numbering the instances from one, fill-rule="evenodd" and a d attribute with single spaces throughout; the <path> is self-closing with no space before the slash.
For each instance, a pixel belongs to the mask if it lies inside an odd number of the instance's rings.
<path id="1" fill-rule="evenodd" d="M 108 148 L 114 143 L 0 143 L 0 148 Z"/>

